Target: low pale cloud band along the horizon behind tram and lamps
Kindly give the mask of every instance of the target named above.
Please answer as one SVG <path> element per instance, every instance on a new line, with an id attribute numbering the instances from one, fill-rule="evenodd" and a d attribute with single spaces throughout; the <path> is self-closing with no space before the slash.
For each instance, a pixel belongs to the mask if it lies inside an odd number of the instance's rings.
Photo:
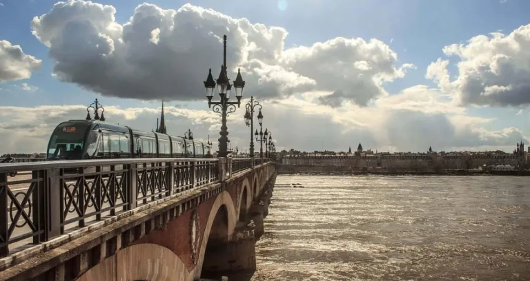
<path id="1" fill-rule="evenodd" d="M 146 107 L 106 106 L 105 109 L 106 122 L 130 125 L 146 132 L 155 128 L 160 112 L 159 108 Z M 190 128 L 199 140 L 206 141 L 209 135 L 217 149 L 218 114 L 173 106 L 166 106 L 164 110 L 169 134 L 179 136 Z M 0 147 L 0 153 L 43 152 L 56 125 L 85 116 L 84 105 L 0 107 L 0 134 L 10 135 Z M 469 147 L 511 151 L 513 145 L 524 138 L 519 129 L 512 127 L 498 131 L 484 129 L 482 125 L 491 121 L 459 114 L 448 116 L 440 111 L 426 113 L 384 107 L 356 107 L 346 111 L 288 98 L 264 103 L 263 129 L 272 132 L 278 149 L 305 151 L 346 151 L 357 143 L 362 143 L 366 149 L 392 152 L 426 151 L 429 146 L 438 151 Z M 244 125 L 241 109 L 228 117 L 228 132 L 233 147 L 248 151 L 250 128 Z M 259 151 L 259 143 L 255 143 L 255 149 Z"/>

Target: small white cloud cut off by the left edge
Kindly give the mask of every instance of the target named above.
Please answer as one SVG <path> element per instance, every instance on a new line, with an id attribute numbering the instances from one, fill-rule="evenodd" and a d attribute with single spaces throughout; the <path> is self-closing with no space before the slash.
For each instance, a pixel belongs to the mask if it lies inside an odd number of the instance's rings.
<path id="1" fill-rule="evenodd" d="M 41 68 L 41 60 L 24 54 L 19 45 L 0 40 L 0 83 L 28 79 Z"/>

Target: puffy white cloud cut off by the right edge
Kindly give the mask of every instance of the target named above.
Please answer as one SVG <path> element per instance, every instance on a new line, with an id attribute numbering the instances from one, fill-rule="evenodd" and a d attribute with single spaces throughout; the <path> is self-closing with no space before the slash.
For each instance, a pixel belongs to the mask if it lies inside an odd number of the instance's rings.
<path id="1" fill-rule="evenodd" d="M 443 48 L 456 56 L 458 77 L 450 81 L 449 60 L 438 59 L 426 77 L 450 92 L 461 105 L 518 106 L 530 104 L 530 24 L 509 35 L 493 32 L 478 35 L 466 44 Z"/>

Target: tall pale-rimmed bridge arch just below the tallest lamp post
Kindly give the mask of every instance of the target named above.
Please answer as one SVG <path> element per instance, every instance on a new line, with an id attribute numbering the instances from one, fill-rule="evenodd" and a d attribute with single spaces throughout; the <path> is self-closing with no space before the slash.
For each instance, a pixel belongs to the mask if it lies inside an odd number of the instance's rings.
<path id="1" fill-rule="evenodd" d="M 227 191 L 223 191 L 217 196 L 217 198 L 215 198 L 215 202 L 213 202 L 210 214 L 208 215 L 208 220 L 201 240 L 201 247 L 199 248 L 199 258 L 197 259 L 197 266 L 195 267 L 195 278 L 201 277 L 205 261 L 204 259 L 206 258 L 206 262 L 208 262 L 209 259 L 215 258 L 215 255 L 207 255 L 207 253 L 215 251 L 216 248 L 219 249 L 219 247 L 223 247 L 222 242 L 228 244 L 228 240 L 232 237 L 235 229 L 235 223 L 237 220 L 236 214 L 234 202 L 230 197 L 230 194 Z M 215 227 L 214 232 L 212 231 L 213 227 Z M 224 229 L 226 229 L 226 232 Z M 210 242 L 210 236 L 212 237 L 212 243 L 210 243 L 210 246 L 213 245 L 213 247 L 210 247 L 207 252 L 206 248 Z"/>

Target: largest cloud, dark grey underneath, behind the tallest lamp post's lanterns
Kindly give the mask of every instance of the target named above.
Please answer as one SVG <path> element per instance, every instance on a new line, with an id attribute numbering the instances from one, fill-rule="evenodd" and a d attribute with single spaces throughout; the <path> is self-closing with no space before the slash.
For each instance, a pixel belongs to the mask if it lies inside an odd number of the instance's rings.
<path id="1" fill-rule="evenodd" d="M 322 98 L 327 105 L 366 105 L 386 95 L 382 83 L 411 67 L 396 66 L 397 54 L 376 39 L 338 37 L 285 48 L 284 28 L 190 4 L 164 10 L 144 3 L 123 25 L 115 13 L 112 6 L 68 1 L 33 19 L 32 33 L 50 48 L 60 81 L 106 96 L 204 99 L 208 68 L 215 77 L 220 71 L 223 34 L 229 76 L 235 79 L 240 67 L 246 95 L 262 99 L 319 90 L 341 93 Z"/>

